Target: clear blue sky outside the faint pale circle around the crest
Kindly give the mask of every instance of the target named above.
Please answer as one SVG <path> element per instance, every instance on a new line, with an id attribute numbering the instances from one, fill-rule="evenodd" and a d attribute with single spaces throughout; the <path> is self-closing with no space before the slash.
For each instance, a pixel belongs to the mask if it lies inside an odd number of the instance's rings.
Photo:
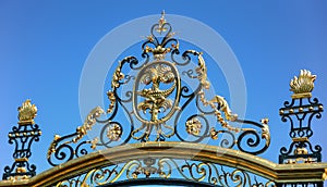
<path id="1" fill-rule="evenodd" d="M 313 95 L 327 102 L 326 8 L 326 1 L 301 0 L 1 1 L 0 174 L 13 161 L 13 146 L 7 141 L 17 122 L 16 108 L 27 98 L 38 107 L 36 122 L 43 136 L 33 147 L 31 162 L 39 173 L 49 169 L 46 152 L 53 135 L 72 133 L 82 124 L 78 86 L 92 49 L 121 24 L 153 14 L 159 17 L 161 10 L 198 20 L 230 46 L 246 83 L 246 119 L 270 119 L 272 140 L 263 157 L 277 162 L 279 148 L 290 142 L 289 124 L 281 123 L 278 109 L 290 100 L 292 76 L 301 68 L 312 71 L 317 75 Z M 314 121 L 312 142 L 327 149 L 325 123 L 325 113 Z"/>

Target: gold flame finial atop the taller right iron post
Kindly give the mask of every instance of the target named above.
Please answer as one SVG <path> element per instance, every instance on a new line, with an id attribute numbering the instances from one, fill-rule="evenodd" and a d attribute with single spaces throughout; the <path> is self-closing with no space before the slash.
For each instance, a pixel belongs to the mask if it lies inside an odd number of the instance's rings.
<path id="1" fill-rule="evenodd" d="M 316 75 L 312 75 L 307 70 L 301 70 L 299 77 L 294 76 L 290 83 L 290 90 L 294 92 L 292 98 L 310 98 L 315 79 Z"/>

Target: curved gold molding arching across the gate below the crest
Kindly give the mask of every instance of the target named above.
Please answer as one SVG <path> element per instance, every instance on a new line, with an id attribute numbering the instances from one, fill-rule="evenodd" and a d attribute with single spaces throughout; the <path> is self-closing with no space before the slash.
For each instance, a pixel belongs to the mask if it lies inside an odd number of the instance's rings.
<path id="1" fill-rule="evenodd" d="M 177 151 L 178 150 L 178 151 Z M 190 142 L 142 142 L 98 150 L 71 160 L 25 180 L 2 180 L 0 186 L 48 186 L 95 167 L 146 157 L 191 159 L 241 169 L 276 183 L 323 182 L 327 163 L 276 164 L 239 150 Z M 325 176 L 325 177 L 324 177 Z"/>

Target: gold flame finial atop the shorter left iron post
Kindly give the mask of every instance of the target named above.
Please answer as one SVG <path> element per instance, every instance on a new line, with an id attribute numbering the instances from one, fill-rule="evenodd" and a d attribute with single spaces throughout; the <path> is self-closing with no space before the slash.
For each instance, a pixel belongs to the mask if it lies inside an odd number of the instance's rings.
<path id="1" fill-rule="evenodd" d="M 31 99 L 27 99 L 19 107 L 19 124 L 34 124 L 34 117 L 36 116 L 37 108 L 31 103 Z"/>

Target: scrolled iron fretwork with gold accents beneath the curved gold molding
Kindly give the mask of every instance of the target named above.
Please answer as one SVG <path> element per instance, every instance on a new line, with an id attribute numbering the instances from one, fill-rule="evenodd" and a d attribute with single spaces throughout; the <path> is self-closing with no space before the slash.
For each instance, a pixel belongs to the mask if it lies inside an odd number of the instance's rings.
<path id="1" fill-rule="evenodd" d="M 171 158 L 146 158 L 93 169 L 78 176 L 63 179 L 53 186 L 80 187 L 107 186 L 108 184 L 133 184 L 133 180 L 155 178 L 192 182 L 197 185 L 272 187 L 275 183 L 241 169 L 204 161 Z M 156 183 L 156 180 L 153 180 Z M 189 183 L 190 184 L 190 183 Z"/>

